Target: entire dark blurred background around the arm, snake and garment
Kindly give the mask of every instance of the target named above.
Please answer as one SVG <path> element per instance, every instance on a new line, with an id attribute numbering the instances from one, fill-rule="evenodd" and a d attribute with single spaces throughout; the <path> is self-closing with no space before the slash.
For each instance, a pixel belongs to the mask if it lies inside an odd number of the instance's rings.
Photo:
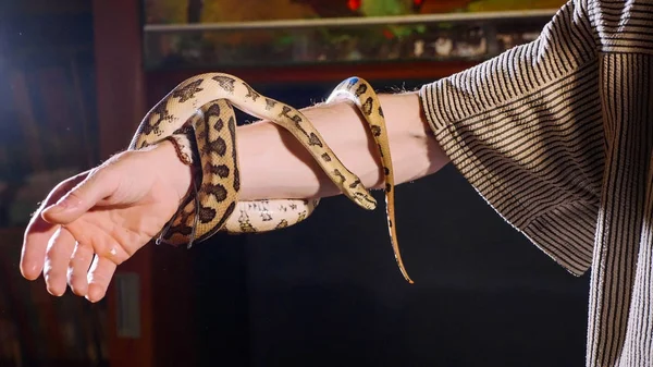
<path id="1" fill-rule="evenodd" d="M 176 84 L 227 72 L 304 107 L 359 75 L 418 88 L 534 39 L 560 0 L 5 0 L 0 4 L 0 366 L 580 366 L 576 278 L 447 167 L 382 207 L 148 245 L 108 296 L 50 296 L 19 259 L 61 180 L 126 148 Z M 241 122 L 250 119 L 241 115 Z M 382 193 L 374 193 L 380 203 Z"/>

